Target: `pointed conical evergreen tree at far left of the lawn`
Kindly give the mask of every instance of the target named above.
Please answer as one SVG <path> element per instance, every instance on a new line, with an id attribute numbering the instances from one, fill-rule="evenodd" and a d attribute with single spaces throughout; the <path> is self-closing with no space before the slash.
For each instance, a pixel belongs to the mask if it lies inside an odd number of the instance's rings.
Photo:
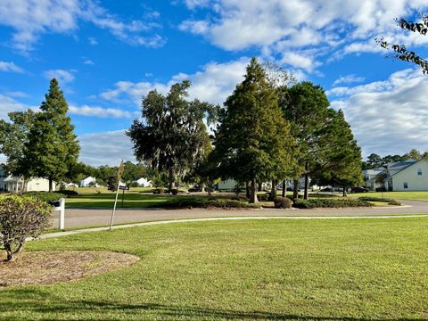
<path id="1" fill-rule="evenodd" d="M 49 191 L 53 190 L 53 181 L 67 177 L 78 160 L 79 145 L 68 110 L 58 81 L 53 78 L 29 131 L 22 163 L 28 169 L 25 177 L 49 179 Z"/>

